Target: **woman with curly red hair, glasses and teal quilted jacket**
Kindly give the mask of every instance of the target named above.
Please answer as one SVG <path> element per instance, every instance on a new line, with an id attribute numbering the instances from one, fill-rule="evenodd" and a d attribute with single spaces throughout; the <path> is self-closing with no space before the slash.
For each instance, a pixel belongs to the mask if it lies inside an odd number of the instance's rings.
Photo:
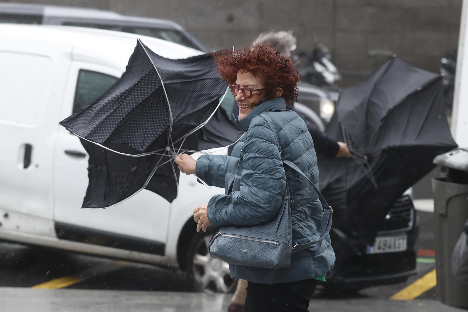
<path id="1" fill-rule="evenodd" d="M 297 98 L 299 73 L 290 59 L 266 44 L 252 49 L 213 54 L 224 80 L 230 85 L 239 106 L 238 120 L 247 131 L 234 146 L 231 156 L 203 155 L 194 160 L 187 154 L 176 156 L 179 169 L 196 173 L 206 183 L 225 187 L 225 195 L 215 195 L 208 204 L 194 210 L 197 232 L 209 225 L 257 225 L 273 219 L 280 209 L 286 183 L 291 192 L 292 242 L 317 241 L 322 228 L 323 208 L 314 187 L 318 183 L 317 158 L 307 125 L 293 111 L 286 110 Z M 278 131 L 282 152 L 265 118 Z M 240 189 L 229 189 L 229 177 L 243 157 Z M 291 168 L 289 160 L 307 178 Z M 335 254 L 327 235 L 321 241 L 292 254 L 285 268 L 256 268 L 229 264 L 232 278 L 248 281 L 242 311 L 307 311 L 318 280 L 335 264 Z"/>

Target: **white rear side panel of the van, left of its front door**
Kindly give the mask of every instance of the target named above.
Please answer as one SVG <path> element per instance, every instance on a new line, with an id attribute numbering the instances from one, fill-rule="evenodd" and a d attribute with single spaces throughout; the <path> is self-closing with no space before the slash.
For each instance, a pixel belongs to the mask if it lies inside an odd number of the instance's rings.
<path id="1" fill-rule="evenodd" d="M 53 147 L 72 45 L 0 36 L 0 208 L 52 220 Z M 44 233 L 49 226 L 15 230 Z"/>

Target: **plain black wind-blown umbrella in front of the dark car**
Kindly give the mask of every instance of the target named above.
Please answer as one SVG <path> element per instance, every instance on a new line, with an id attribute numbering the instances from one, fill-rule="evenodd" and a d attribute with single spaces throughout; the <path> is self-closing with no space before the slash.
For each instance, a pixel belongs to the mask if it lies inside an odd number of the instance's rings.
<path id="1" fill-rule="evenodd" d="M 439 75 L 391 58 L 365 81 L 344 89 L 326 130 L 351 159 L 319 156 L 320 187 L 334 224 L 359 229 L 372 244 L 402 193 L 456 147 Z"/>

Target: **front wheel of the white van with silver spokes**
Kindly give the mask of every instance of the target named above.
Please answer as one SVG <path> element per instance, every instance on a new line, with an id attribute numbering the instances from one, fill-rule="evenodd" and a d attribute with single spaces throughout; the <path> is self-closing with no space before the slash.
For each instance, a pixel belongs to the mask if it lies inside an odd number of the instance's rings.
<path id="1" fill-rule="evenodd" d="M 197 291 L 234 292 L 237 279 L 231 278 L 229 265 L 208 252 L 208 243 L 216 232 L 208 229 L 195 234 L 187 254 L 187 275 Z"/>

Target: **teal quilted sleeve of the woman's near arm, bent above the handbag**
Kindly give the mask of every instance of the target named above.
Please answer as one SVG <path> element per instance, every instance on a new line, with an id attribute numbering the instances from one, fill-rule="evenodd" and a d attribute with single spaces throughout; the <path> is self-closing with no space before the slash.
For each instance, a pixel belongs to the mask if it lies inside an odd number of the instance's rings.
<path id="1" fill-rule="evenodd" d="M 207 213 L 212 225 L 265 223 L 281 206 L 285 170 L 273 132 L 263 117 L 256 116 L 250 122 L 243 154 L 241 190 L 211 198 Z"/>

